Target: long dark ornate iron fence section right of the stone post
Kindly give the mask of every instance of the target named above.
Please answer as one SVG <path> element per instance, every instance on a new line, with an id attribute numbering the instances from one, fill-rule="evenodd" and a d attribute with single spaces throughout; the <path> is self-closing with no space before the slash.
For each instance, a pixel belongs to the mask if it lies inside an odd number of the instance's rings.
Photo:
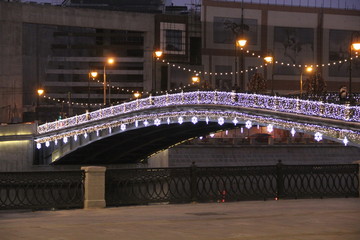
<path id="1" fill-rule="evenodd" d="M 106 204 L 358 197 L 359 166 L 302 165 L 107 170 Z"/>

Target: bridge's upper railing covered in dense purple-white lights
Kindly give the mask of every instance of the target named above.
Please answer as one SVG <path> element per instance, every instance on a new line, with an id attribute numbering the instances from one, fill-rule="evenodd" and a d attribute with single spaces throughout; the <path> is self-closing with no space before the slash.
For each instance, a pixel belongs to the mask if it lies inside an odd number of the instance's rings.
<path id="1" fill-rule="evenodd" d="M 160 108 L 179 105 L 225 105 L 234 107 L 258 108 L 278 112 L 296 113 L 308 116 L 319 116 L 348 122 L 360 122 L 360 107 L 323 103 L 277 96 L 218 92 L 195 91 L 166 94 L 134 100 L 116 106 L 85 113 L 79 116 L 46 123 L 38 127 L 38 133 L 46 133 L 87 122 L 105 119 L 132 111 L 148 108 Z"/>

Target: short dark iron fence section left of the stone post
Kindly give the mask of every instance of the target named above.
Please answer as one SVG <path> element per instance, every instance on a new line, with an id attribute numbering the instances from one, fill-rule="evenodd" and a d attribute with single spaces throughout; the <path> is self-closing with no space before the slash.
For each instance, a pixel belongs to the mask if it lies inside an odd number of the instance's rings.
<path id="1" fill-rule="evenodd" d="M 0 210 L 81 208 L 83 171 L 0 173 Z"/>

